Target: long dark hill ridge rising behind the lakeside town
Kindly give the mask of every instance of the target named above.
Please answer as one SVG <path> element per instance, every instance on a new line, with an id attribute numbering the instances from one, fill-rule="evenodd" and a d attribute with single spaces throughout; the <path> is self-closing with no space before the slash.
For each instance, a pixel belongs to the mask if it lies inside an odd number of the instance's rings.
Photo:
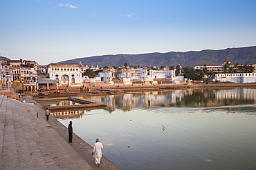
<path id="1" fill-rule="evenodd" d="M 256 64 L 256 46 L 228 48 L 226 50 L 202 50 L 200 52 L 167 52 L 167 53 L 149 53 L 149 54 L 116 54 L 104 56 L 91 56 L 58 63 L 79 63 L 83 65 L 104 65 L 122 66 L 128 65 L 140 66 L 170 66 L 181 65 L 182 67 L 194 65 L 219 65 L 224 61 L 230 60 L 231 63 Z"/>

